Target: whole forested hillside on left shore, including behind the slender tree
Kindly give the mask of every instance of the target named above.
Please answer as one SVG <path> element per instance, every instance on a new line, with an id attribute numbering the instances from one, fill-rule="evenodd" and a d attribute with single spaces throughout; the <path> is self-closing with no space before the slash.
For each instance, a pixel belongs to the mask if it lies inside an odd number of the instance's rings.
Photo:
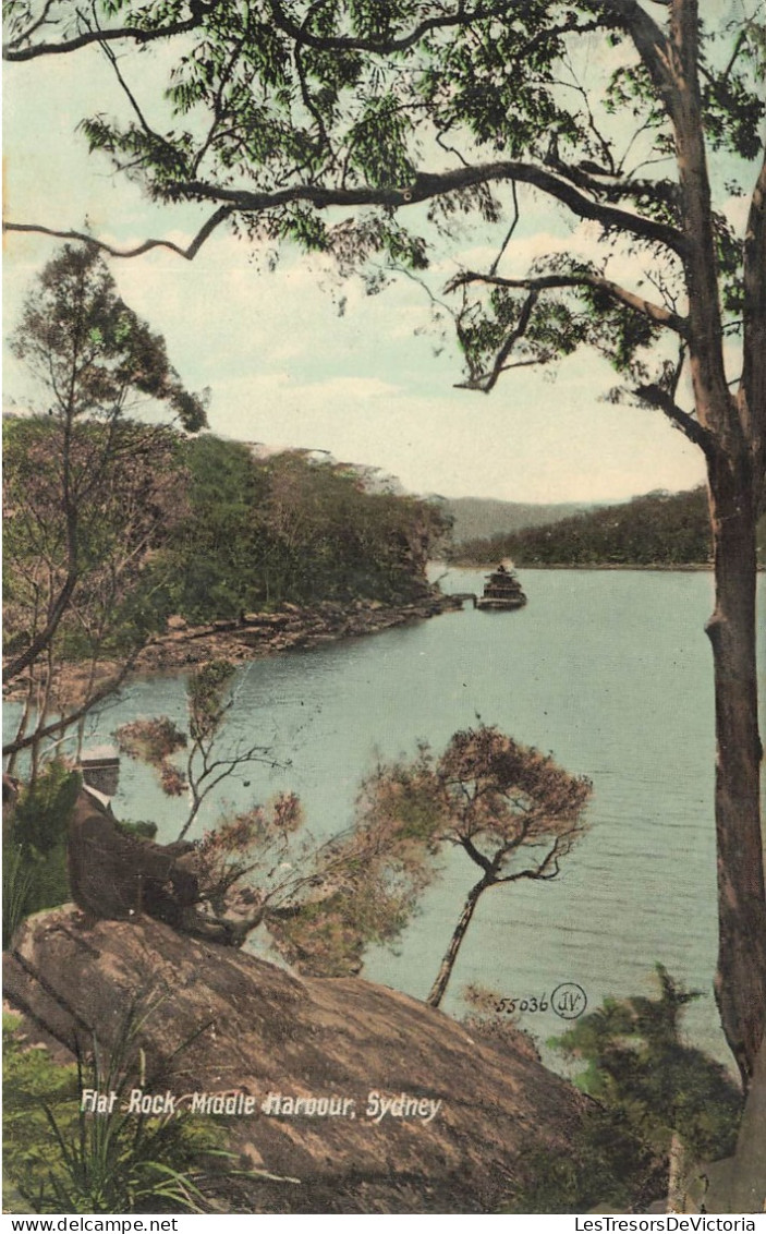
<path id="1" fill-rule="evenodd" d="M 54 576 L 67 568 L 54 432 L 48 417 L 5 422 L 6 649 L 38 619 L 41 561 Z M 106 432 L 94 423 L 81 434 L 81 565 L 76 607 L 59 631 L 65 658 L 90 654 L 80 644 L 99 598 L 109 600 L 109 634 L 101 622 L 99 642 L 107 654 L 131 632 L 162 629 L 171 613 L 205 622 L 286 602 L 397 603 L 426 589 L 426 561 L 445 527 L 435 505 L 370 492 L 352 465 L 301 452 L 258 459 L 239 442 L 128 421 L 97 482 L 89 459 L 100 458 Z"/>

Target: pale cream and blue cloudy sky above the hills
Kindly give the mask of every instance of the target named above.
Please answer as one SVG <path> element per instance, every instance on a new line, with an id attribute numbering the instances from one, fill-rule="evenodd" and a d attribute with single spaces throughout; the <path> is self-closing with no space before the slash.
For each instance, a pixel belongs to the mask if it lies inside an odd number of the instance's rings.
<path id="1" fill-rule="evenodd" d="M 88 218 L 96 236 L 122 244 L 194 236 L 208 211 L 153 204 L 88 154 L 78 121 L 120 109 L 95 48 L 6 65 L 4 89 L 7 218 L 63 228 L 81 228 Z M 530 191 L 521 200 L 508 274 L 571 243 L 561 207 Z M 466 228 L 437 262 L 432 285 L 447 283 L 459 263 L 486 268 L 496 251 L 488 238 Z M 592 225 L 580 225 L 577 251 L 587 254 L 595 242 Z M 6 233 L 5 338 L 58 247 Z M 369 296 L 359 280 L 340 284 L 321 260 L 296 251 L 284 252 L 270 271 L 268 253 L 222 231 L 191 263 L 154 251 L 110 260 L 110 269 L 126 302 L 164 334 L 186 386 L 210 387 L 213 432 L 327 450 L 380 468 L 410 491 L 448 497 L 625 500 L 704 479 L 699 452 L 660 412 L 604 401 L 616 374 L 592 354 L 555 373 L 509 373 L 490 395 L 455 389 L 463 374 L 454 338 L 433 329 L 428 297 L 407 278 Z M 35 405 L 7 348 L 4 360 L 5 405 Z"/>

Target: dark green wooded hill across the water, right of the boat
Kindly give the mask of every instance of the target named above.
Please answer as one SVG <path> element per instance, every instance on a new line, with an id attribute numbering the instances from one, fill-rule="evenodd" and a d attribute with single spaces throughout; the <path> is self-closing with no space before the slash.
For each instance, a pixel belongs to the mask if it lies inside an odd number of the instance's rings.
<path id="1" fill-rule="evenodd" d="M 453 559 L 491 565 L 509 557 L 517 565 L 706 565 L 710 523 L 703 489 L 650 492 L 546 527 L 458 545 Z"/>

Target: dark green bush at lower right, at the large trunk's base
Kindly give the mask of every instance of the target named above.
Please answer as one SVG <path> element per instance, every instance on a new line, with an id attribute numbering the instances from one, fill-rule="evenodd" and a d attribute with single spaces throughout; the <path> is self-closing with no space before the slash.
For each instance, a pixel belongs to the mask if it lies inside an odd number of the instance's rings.
<path id="1" fill-rule="evenodd" d="M 683 1040 L 681 1013 L 698 993 L 661 965 L 657 977 L 657 997 L 607 998 L 554 1041 L 585 1065 L 576 1082 L 593 1104 L 569 1154 L 519 1161 L 508 1212 L 646 1212 L 673 1191 L 682 1198 L 704 1161 L 734 1150 L 741 1092 Z"/>

